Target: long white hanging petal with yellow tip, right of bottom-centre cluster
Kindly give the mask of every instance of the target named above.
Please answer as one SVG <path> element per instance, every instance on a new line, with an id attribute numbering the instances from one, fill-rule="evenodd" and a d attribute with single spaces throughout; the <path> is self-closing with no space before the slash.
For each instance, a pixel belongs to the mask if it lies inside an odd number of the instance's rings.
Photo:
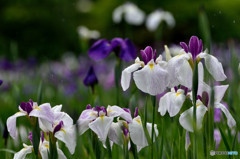
<path id="1" fill-rule="evenodd" d="M 132 142 L 141 148 L 147 146 L 148 142 L 142 126 L 141 117 L 137 116 L 134 118 L 133 122 L 129 123 L 128 126 Z"/>

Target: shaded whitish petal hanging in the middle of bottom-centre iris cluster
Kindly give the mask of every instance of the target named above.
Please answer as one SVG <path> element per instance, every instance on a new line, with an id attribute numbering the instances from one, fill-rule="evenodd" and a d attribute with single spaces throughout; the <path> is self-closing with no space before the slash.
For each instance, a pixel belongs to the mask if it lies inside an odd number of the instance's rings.
<path id="1" fill-rule="evenodd" d="M 123 145 L 123 134 L 119 123 L 112 123 L 108 132 L 108 137 L 113 143 L 120 146 Z"/>

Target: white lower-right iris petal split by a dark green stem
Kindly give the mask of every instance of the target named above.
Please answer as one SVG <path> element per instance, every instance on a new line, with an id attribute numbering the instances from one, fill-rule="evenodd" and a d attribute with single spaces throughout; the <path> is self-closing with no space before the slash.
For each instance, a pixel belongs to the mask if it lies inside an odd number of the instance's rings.
<path id="1" fill-rule="evenodd" d="M 202 128 L 202 121 L 207 111 L 207 107 L 199 105 L 196 110 L 197 115 L 197 129 Z M 179 117 L 180 125 L 187 131 L 193 132 L 193 107 L 183 112 Z"/>

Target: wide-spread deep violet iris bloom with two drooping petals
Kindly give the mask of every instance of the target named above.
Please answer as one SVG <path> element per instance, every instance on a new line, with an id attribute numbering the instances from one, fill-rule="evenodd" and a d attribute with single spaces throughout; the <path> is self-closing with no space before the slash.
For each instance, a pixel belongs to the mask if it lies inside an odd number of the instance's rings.
<path id="1" fill-rule="evenodd" d="M 98 61 L 106 58 L 111 52 L 129 62 L 136 58 L 137 53 L 135 46 L 129 39 L 114 38 L 110 42 L 106 39 L 96 41 L 88 51 L 91 59 Z"/>

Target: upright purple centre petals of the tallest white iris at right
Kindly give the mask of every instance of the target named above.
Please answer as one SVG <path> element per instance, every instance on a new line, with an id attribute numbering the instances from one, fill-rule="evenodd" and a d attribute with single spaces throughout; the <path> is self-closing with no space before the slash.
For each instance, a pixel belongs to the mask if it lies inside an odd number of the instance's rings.
<path id="1" fill-rule="evenodd" d="M 188 46 L 185 42 L 180 42 L 180 45 L 186 53 L 190 52 L 192 54 L 193 60 L 195 60 L 197 55 L 203 50 L 202 40 L 199 40 L 197 36 L 190 38 Z"/>

